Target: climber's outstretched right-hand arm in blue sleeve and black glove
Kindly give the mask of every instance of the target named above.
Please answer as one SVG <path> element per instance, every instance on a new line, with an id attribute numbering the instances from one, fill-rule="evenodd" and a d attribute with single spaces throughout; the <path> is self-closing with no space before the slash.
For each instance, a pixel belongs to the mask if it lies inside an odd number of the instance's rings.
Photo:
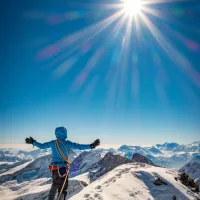
<path id="1" fill-rule="evenodd" d="M 94 149 L 96 146 L 100 145 L 100 140 L 97 139 L 92 144 L 78 144 L 67 140 L 65 144 L 69 149 L 86 150 L 86 149 Z"/>

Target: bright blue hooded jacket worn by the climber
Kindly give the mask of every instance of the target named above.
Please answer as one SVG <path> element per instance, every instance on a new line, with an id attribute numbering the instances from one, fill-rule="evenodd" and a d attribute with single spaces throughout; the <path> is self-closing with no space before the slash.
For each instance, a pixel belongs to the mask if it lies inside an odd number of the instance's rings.
<path id="1" fill-rule="evenodd" d="M 66 152 L 66 148 L 63 145 L 59 145 L 60 149 L 62 150 L 62 152 L 65 155 L 68 155 L 71 149 L 80 149 L 80 150 L 91 149 L 91 146 L 89 144 L 77 144 L 77 143 L 71 142 L 69 140 L 66 140 L 67 129 L 65 129 L 64 127 L 56 128 L 55 135 L 56 135 L 56 138 L 66 146 L 67 152 Z M 59 167 L 66 165 L 66 164 L 62 164 L 62 163 L 61 164 L 57 163 L 57 162 L 64 162 L 64 160 L 57 153 L 56 146 L 55 146 L 55 140 L 52 140 L 50 142 L 45 142 L 43 144 L 35 141 L 33 143 L 33 145 L 40 149 L 51 148 L 51 151 L 52 151 L 52 162 L 51 163 L 52 163 L 52 165 L 56 165 Z M 56 162 L 57 164 L 54 164 L 54 162 Z"/>

